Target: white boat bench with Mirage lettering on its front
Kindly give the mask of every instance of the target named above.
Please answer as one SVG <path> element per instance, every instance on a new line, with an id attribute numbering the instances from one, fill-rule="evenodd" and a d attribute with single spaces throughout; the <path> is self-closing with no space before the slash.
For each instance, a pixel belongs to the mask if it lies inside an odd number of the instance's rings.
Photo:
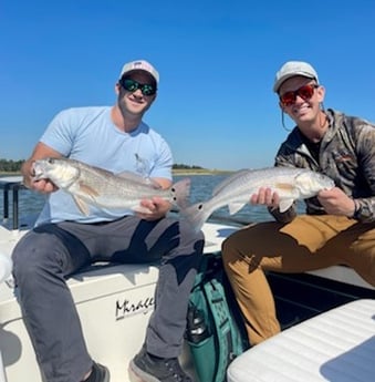
<path id="1" fill-rule="evenodd" d="M 204 230 L 209 238 L 205 252 L 216 252 L 236 228 L 207 224 Z M 0 226 L 1 252 L 10 255 L 21 235 L 24 231 L 10 231 Z M 142 348 L 154 310 L 158 272 L 156 265 L 101 262 L 67 280 L 90 354 L 108 366 L 113 382 L 128 381 L 127 364 Z M 8 382 L 42 382 L 11 282 L 0 283 L 0 353 L 3 364 L 3 368 L 0 364 L 0 382 L 4 379 Z M 180 362 L 195 375 L 186 342 Z M 4 374 L 2 380 L 1 373 Z"/>

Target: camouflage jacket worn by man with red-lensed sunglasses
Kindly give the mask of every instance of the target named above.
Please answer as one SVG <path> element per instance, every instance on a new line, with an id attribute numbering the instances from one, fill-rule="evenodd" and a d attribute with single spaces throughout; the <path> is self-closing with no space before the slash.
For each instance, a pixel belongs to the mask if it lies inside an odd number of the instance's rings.
<path id="1" fill-rule="evenodd" d="M 357 199 L 355 218 L 375 221 L 375 124 L 330 109 L 326 114 L 330 126 L 321 142 L 319 161 L 295 126 L 281 144 L 275 166 L 308 167 L 330 176 L 346 195 Z M 306 214 L 325 214 L 316 197 L 306 199 L 305 205 Z M 296 214 L 295 205 L 283 214 L 271 214 L 279 221 L 290 221 Z"/>

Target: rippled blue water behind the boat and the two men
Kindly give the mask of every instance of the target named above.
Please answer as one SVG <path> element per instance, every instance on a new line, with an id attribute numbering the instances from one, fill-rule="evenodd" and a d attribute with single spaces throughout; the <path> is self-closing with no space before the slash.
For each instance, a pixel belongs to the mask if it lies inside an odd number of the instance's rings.
<path id="1" fill-rule="evenodd" d="M 215 186 L 217 186 L 221 180 L 223 180 L 228 175 L 192 175 L 188 176 L 191 179 L 191 192 L 190 192 L 190 203 L 198 203 L 207 200 Z M 186 176 L 176 176 L 175 180 L 179 180 Z M 12 193 L 10 193 L 10 200 L 12 199 Z M 20 190 L 19 195 L 19 210 L 20 220 L 29 215 L 37 215 L 44 204 L 44 196 L 38 193 L 33 193 L 28 189 Z M 11 207 L 9 213 L 11 214 Z M 0 192 L 0 216 L 3 216 L 3 195 Z M 230 216 L 227 207 L 222 207 L 216 210 L 212 216 L 212 220 L 217 219 L 228 219 L 238 220 L 240 223 L 244 221 L 264 221 L 272 220 L 268 210 L 263 206 L 244 206 L 239 213 Z"/>

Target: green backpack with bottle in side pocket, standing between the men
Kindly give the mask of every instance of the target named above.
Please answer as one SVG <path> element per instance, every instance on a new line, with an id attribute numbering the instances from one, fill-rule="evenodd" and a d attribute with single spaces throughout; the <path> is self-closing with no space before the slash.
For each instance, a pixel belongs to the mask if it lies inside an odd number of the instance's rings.
<path id="1" fill-rule="evenodd" d="M 186 338 L 199 382 L 223 382 L 229 363 L 249 345 L 221 255 L 202 256 L 190 293 Z"/>

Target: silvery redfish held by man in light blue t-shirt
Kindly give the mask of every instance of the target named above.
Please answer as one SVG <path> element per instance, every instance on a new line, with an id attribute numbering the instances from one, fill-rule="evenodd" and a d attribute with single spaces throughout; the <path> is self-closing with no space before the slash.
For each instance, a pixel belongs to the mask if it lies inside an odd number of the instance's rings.
<path id="1" fill-rule="evenodd" d="M 33 164 L 34 179 L 50 179 L 71 194 L 82 214 L 88 215 L 90 205 L 108 209 L 127 208 L 139 213 L 148 209 L 139 205 L 143 199 L 160 197 L 178 208 L 185 208 L 190 193 L 190 179 L 181 179 L 163 189 L 149 178 L 135 173 L 118 175 L 69 158 L 44 158 Z"/>

